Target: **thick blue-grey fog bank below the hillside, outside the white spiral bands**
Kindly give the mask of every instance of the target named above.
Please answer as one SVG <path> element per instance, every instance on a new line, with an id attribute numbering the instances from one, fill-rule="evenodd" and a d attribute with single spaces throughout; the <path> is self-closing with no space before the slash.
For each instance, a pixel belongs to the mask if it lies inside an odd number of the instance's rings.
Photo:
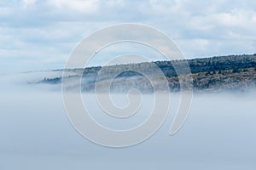
<path id="1" fill-rule="evenodd" d="M 113 149 L 84 139 L 68 121 L 60 85 L 31 84 L 61 71 L 0 76 L 0 169 L 223 169 L 256 168 L 256 93 L 194 94 L 187 121 L 169 135 L 179 102 L 171 94 L 166 122 L 143 143 Z M 127 105 L 125 95 L 113 102 Z M 104 115 L 94 94 L 84 105 L 97 122 L 115 129 L 147 118 L 153 95 L 143 94 L 139 115 Z"/>

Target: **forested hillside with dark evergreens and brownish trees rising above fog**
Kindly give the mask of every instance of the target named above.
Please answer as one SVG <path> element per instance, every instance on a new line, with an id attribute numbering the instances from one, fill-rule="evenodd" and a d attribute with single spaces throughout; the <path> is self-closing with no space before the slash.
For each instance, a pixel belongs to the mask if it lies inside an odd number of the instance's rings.
<path id="1" fill-rule="evenodd" d="M 170 90 L 177 92 L 180 90 L 179 81 L 189 80 L 186 80 L 186 76 L 188 75 L 183 75 L 183 72 L 180 77 L 177 77 L 173 65 L 183 68 L 185 62 L 188 62 L 190 67 L 194 91 L 219 92 L 236 90 L 246 92 L 256 88 L 256 54 L 73 69 L 68 70 L 70 76 L 67 78 L 70 78 L 72 82 L 73 78 L 82 74 L 82 90 L 84 92 L 93 91 L 96 82 L 97 87 L 104 89 L 106 88 L 106 83 L 110 83 L 112 80 L 113 82 L 111 82 L 110 87 L 115 92 L 125 92 L 131 88 L 138 88 L 142 92 L 152 92 L 153 87 L 148 79 L 138 72 L 144 71 L 150 77 L 153 77 L 154 90 L 160 90 L 162 88 L 161 81 L 160 77 L 155 75 L 155 68 L 153 66 L 155 64 L 163 72 Z M 96 79 L 98 74 L 101 75 L 100 79 Z M 113 77 L 115 78 L 113 79 Z M 58 84 L 61 83 L 61 77 L 45 77 L 44 80 L 37 83 Z M 73 84 L 70 88 L 72 89 L 78 86 L 79 84 Z"/>

